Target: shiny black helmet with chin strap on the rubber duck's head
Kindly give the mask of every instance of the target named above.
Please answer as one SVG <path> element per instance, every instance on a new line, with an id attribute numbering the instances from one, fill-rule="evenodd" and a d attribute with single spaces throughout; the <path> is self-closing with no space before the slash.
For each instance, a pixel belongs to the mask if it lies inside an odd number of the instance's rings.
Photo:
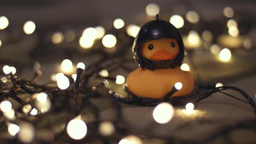
<path id="1" fill-rule="evenodd" d="M 175 26 L 165 20 L 159 20 L 158 15 L 156 16 L 156 18 L 157 20 L 152 20 L 141 27 L 133 43 L 133 57 L 135 61 L 138 61 L 139 66 L 142 69 L 173 69 L 177 66 L 180 66 L 184 59 L 184 44 L 181 35 Z M 153 39 L 167 38 L 176 39 L 180 48 L 180 53 L 174 60 L 151 61 L 150 59 L 146 59 L 141 56 L 140 45 L 142 43 Z"/>

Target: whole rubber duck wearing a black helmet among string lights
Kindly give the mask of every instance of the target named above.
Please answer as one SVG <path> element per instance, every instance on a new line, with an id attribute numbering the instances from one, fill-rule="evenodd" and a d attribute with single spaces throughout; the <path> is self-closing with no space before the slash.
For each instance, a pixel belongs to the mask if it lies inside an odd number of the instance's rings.
<path id="1" fill-rule="evenodd" d="M 181 35 L 171 23 L 156 17 L 141 27 L 134 40 L 134 59 L 139 68 L 129 73 L 127 88 L 139 97 L 161 99 L 181 82 L 182 88 L 171 98 L 190 95 L 194 76 L 180 68 L 184 59 Z"/>

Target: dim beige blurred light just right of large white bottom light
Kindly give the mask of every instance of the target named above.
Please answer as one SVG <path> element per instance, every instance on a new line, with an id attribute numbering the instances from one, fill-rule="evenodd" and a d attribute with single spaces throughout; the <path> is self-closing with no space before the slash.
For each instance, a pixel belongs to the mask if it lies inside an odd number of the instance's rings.
<path id="1" fill-rule="evenodd" d="M 110 136 L 115 132 L 115 126 L 109 121 L 99 124 L 98 131 L 102 136 Z"/>

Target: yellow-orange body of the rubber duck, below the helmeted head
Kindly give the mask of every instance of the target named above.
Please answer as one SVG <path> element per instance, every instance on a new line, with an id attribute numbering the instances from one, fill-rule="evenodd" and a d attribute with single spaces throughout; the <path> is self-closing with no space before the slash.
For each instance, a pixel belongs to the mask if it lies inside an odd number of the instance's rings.
<path id="1" fill-rule="evenodd" d="M 176 67 L 174 69 L 135 69 L 128 75 L 127 85 L 129 91 L 140 97 L 161 99 L 175 85 L 182 83 L 182 88 L 174 96 L 190 95 L 194 89 L 194 76 Z"/>

